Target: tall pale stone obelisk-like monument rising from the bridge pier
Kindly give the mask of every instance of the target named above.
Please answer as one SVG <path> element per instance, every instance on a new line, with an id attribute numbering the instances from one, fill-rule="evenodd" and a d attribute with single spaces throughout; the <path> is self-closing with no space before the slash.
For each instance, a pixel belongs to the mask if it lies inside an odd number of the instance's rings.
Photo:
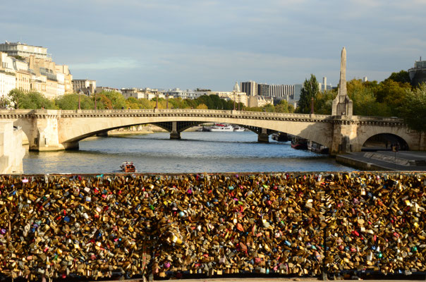
<path id="1" fill-rule="evenodd" d="M 331 116 L 352 116 L 353 102 L 348 97 L 346 90 L 346 49 L 343 47 L 341 50 L 340 59 L 340 80 L 339 92 L 337 92 L 336 99 L 333 100 L 333 107 L 331 108 Z"/>

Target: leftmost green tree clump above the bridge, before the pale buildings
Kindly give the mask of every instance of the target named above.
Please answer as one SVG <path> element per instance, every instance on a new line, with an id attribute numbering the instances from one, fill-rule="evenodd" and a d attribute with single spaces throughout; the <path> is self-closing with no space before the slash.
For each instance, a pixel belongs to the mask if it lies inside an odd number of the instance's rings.
<path id="1" fill-rule="evenodd" d="M 39 92 L 25 93 L 15 89 L 9 92 L 9 97 L 15 105 L 15 109 L 57 109 L 53 101 Z"/>

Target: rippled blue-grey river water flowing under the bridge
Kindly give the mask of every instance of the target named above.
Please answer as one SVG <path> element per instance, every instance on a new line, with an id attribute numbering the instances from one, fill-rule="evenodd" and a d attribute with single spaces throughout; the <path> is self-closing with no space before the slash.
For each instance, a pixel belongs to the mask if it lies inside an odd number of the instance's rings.
<path id="1" fill-rule="evenodd" d="M 183 132 L 90 137 L 77 151 L 28 152 L 24 173 L 111 173 L 133 161 L 140 173 L 353 171 L 323 154 L 296 150 L 290 142 L 257 142 L 252 132 Z"/>

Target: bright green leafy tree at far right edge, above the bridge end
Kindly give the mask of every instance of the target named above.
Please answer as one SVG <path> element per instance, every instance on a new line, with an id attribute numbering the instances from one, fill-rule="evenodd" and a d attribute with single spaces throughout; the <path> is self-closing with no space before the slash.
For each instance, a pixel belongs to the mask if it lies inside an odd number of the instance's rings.
<path id="1" fill-rule="evenodd" d="M 426 83 L 407 90 L 399 112 L 410 128 L 426 132 Z"/>

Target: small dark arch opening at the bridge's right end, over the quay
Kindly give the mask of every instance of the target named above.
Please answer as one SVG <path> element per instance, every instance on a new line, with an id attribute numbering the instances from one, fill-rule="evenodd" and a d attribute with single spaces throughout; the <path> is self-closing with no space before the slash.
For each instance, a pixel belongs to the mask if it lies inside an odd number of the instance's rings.
<path id="1" fill-rule="evenodd" d="M 402 151 L 408 151 L 410 149 L 408 143 L 406 140 L 403 140 L 402 137 L 392 133 L 379 133 L 365 140 L 361 151 L 390 151 L 393 145 L 395 145 L 398 150 Z"/>

